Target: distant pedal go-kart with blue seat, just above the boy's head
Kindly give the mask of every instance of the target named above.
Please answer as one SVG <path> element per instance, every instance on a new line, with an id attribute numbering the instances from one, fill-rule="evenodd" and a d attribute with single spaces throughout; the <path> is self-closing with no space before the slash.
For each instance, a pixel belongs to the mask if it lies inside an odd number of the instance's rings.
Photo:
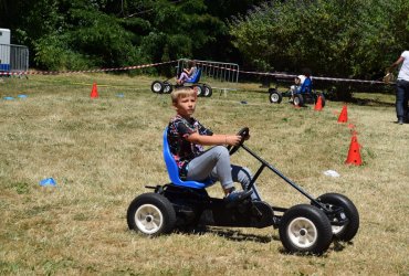
<path id="1" fill-rule="evenodd" d="M 200 97 L 211 97 L 213 94 L 213 91 L 210 85 L 200 83 L 200 76 L 201 76 L 201 68 L 198 68 L 196 71 L 196 74 L 191 76 L 191 78 L 187 79 L 182 85 L 179 84 L 171 84 L 169 79 L 166 79 L 164 82 L 161 81 L 154 81 L 150 85 L 150 89 L 153 93 L 158 94 L 169 94 L 174 91 L 174 88 L 188 86 L 192 87 L 197 91 L 198 96 Z"/>

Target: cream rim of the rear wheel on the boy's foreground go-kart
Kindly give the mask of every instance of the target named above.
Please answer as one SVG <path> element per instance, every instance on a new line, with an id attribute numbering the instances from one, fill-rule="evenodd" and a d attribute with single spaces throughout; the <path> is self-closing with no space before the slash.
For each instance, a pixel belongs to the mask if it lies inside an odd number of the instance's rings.
<path id="1" fill-rule="evenodd" d="M 164 216 L 160 210 L 153 204 L 144 204 L 136 210 L 136 226 L 145 234 L 154 234 L 164 224 Z"/>

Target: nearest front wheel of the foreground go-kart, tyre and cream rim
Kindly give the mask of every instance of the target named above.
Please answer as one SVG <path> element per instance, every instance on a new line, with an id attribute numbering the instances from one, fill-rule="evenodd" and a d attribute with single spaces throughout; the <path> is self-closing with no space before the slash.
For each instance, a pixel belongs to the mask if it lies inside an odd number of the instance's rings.
<path id="1" fill-rule="evenodd" d="M 280 221 L 279 232 L 290 253 L 321 255 L 333 238 L 328 217 L 318 208 L 307 204 L 289 209 Z"/>

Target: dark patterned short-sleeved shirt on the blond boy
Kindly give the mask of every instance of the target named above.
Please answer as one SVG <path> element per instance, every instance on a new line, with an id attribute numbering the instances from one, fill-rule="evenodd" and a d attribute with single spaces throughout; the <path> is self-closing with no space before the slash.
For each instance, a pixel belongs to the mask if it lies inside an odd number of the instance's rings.
<path id="1" fill-rule="evenodd" d="M 204 151 L 203 146 L 187 140 L 193 132 L 208 136 L 213 135 L 210 129 L 206 128 L 195 118 L 186 119 L 177 115 L 170 119 L 168 126 L 168 142 L 170 152 L 179 168 L 180 178 L 186 178 L 189 161 Z"/>

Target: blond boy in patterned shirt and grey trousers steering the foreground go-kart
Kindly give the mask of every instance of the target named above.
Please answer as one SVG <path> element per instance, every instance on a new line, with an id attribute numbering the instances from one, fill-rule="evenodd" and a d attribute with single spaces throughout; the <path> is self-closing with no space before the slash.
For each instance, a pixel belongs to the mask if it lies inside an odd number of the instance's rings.
<path id="1" fill-rule="evenodd" d="M 250 191 L 234 190 L 234 182 L 240 182 L 243 190 L 247 190 L 252 174 L 247 168 L 231 164 L 229 150 L 222 145 L 237 146 L 241 141 L 241 136 L 216 135 L 195 119 L 192 115 L 198 97 L 193 89 L 189 87 L 175 89 L 170 96 L 177 114 L 169 121 L 167 135 L 180 179 L 219 180 L 228 201 L 240 201 L 249 195 L 252 200 L 260 200 L 255 184 Z M 214 147 L 204 150 L 203 146 Z"/>

